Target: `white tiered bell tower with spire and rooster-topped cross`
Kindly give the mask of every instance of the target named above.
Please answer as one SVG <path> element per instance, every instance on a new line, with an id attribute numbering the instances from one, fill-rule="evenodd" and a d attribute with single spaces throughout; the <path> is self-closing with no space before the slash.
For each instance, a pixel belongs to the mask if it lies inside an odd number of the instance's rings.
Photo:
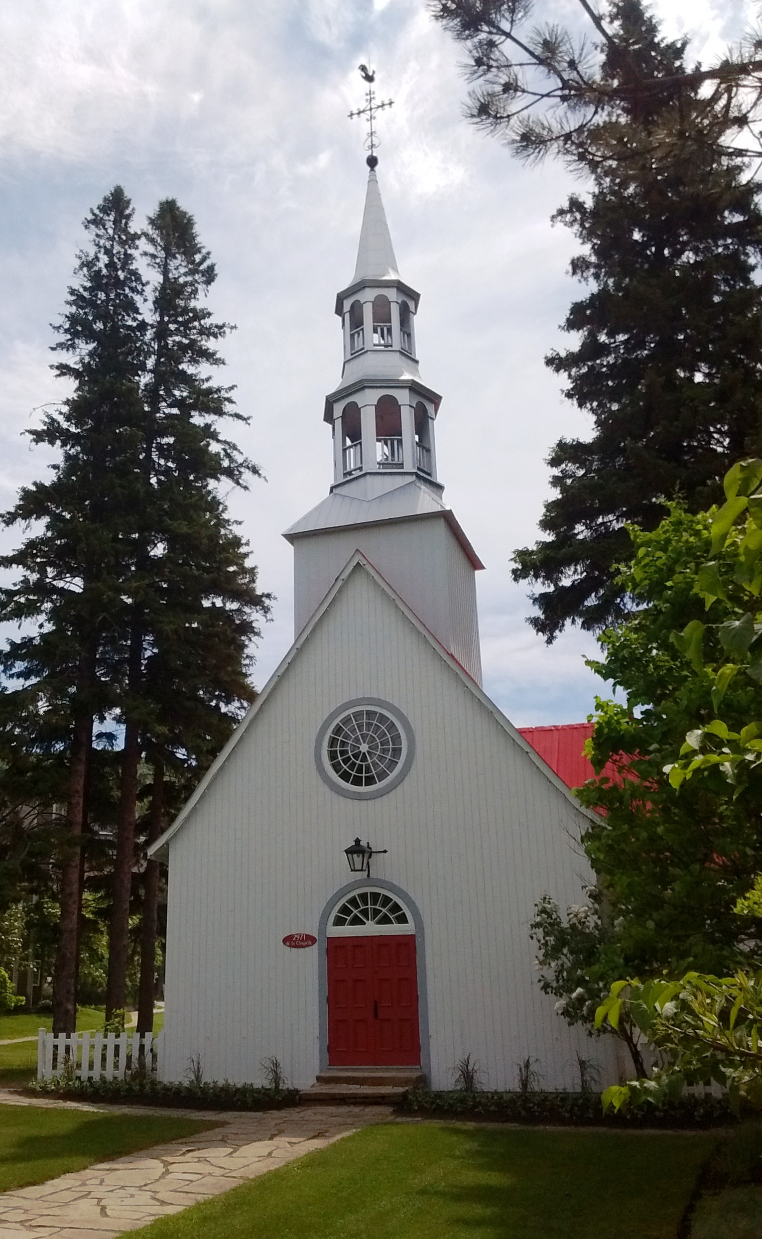
<path id="1" fill-rule="evenodd" d="M 390 103 L 375 104 L 372 79 L 367 107 L 352 113 L 369 119 L 369 175 L 354 275 L 336 299 L 341 382 L 323 411 L 333 482 L 284 534 L 294 546 L 294 627 L 299 634 L 359 550 L 481 684 L 475 572 L 483 564 L 442 501 L 434 440 L 441 396 L 420 377 L 420 297 L 400 278 L 375 175 L 373 116 Z"/>

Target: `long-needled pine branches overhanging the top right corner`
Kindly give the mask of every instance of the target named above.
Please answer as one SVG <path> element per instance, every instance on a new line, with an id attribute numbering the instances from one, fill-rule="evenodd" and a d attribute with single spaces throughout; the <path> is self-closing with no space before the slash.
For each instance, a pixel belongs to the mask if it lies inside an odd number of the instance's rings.
<path id="1" fill-rule="evenodd" d="M 685 63 L 686 38 L 659 37 L 643 0 L 577 0 L 563 15 L 553 0 L 431 0 L 431 10 L 466 46 L 468 115 L 520 159 L 554 154 L 575 171 L 627 162 L 622 123 L 647 131 L 657 162 L 688 128 L 716 151 L 760 156 L 760 28 L 707 66 Z"/>

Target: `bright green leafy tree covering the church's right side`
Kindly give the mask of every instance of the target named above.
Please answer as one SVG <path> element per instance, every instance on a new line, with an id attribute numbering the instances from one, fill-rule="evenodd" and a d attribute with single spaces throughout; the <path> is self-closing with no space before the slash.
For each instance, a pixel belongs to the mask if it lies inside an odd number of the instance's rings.
<path id="1" fill-rule="evenodd" d="M 590 662 L 626 696 L 597 700 L 589 742 L 595 768 L 616 774 L 577 789 L 596 810 L 582 847 L 600 887 L 584 926 L 579 909 L 564 921 L 556 908 L 534 927 L 544 984 L 589 1027 L 601 991 L 623 976 L 721 978 L 760 958 L 762 917 L 736 912 L 752 911 L 762 870 L 762 539 L 748 512 L 760 482 L 761 462 L 740 465 L 721 509 L 674 503 L 655 530 L 629 530 L 620 581 L 632 610 Z"/>

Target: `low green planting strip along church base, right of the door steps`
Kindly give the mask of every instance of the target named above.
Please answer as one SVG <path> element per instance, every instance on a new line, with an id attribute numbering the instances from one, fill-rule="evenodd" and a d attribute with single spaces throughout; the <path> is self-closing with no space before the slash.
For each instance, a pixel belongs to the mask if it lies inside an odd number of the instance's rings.
<path id="1" fill-rule="evenodd" d="M 478 1118 L 493 1123 L 590 1127 L 721 1127 L 737 1123 L 724 1098 L 683 1097 L 657 1110 L 606 1114 L 600 1093 L 432 1093 L 408 1089 L 398 1113 L 432 1118 Z"/>

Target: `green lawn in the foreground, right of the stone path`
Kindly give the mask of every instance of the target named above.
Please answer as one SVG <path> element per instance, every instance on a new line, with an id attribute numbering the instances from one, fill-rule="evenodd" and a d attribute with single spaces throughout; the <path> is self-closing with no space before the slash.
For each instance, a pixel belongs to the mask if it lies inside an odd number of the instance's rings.
<path id="1" fill-rule="evenodd" d="M 675 1239 L 716 1140 L 384 1124 L 131 1239 Z"/>

